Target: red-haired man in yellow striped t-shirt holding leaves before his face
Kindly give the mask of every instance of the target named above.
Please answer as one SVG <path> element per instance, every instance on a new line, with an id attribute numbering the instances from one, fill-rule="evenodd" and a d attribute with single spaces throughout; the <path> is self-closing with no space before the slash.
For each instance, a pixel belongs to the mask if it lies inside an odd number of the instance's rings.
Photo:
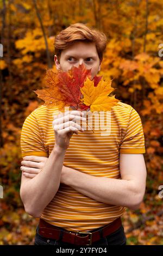
<path id="1" fill-rule="evenodd" d="M 84 64 L 95 77 L 104 33 L 76 23 L 55 36 L 54 61 L 68 71 Z M 39 217 L 35 245 L 126 245 L 121 217 L 139 208 L 146 188 L 145 141 L 135 109 L 111 109 L 111 133 L 84 131 L 82 111 L 57 114 L 41 105 L 24 121 L 21 199 Z"/>

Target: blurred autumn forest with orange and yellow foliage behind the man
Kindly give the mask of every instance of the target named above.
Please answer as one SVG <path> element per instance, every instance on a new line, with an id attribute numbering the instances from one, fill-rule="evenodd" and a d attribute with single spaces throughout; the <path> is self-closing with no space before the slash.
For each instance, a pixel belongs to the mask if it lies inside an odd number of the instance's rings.
<path id="1" fill-rule="evenodd" d="M 163 245 L 162 10 L 163 0 L 0 0 L 0 245 L 34 243 L 39 219 L 20 199 L 21 128 L 43 104 L 32 90 L 55 69 L 55 35 L 76 22 L 108 37 L 98 75 L 114 78 L 116 98 L 136 109 L 145 133 L 146 193 L 140 209 L 122 218 L 127 245 Z"/>

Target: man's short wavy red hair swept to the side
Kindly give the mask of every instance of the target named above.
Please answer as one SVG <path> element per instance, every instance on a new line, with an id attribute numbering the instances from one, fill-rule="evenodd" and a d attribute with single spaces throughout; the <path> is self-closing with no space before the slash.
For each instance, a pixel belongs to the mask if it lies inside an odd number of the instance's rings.
<path id="1" fill-rule="evenodd" d="M 90 28 L 83 23 L 74 23 L 55 36 L 54 51 L 60 60 L 61 51 L 76 41 L 95 42 L 100 62 L 106 48 L 106 35 L 97 29 Z"/>

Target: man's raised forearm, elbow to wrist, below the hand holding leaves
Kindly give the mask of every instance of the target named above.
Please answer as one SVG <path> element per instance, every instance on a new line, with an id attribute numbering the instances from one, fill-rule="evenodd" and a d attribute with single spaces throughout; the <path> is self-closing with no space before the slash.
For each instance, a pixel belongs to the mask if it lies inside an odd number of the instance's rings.
<path id="1" fill-rule="evenodd" d="M 28 214 L 39 217 L 57 193 L 65 153 L 66 150 L 54 147 L 41 172 L 21 188 L 21 199 Z"/>

